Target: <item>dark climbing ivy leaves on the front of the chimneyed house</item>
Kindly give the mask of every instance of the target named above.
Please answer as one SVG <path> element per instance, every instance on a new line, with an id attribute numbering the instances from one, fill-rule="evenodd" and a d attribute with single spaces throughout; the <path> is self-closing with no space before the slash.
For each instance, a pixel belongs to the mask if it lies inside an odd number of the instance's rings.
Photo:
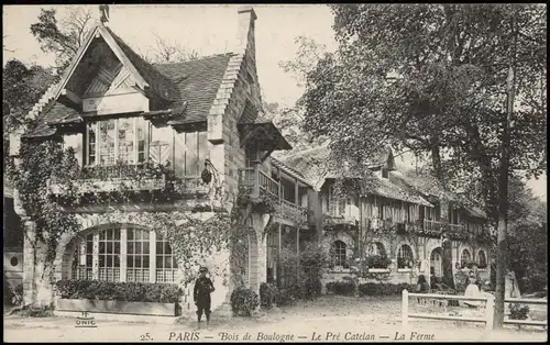
<path id="1" fill-rule="evenodd" d="M 122 171 L 122 165 L 117 165 L 110 171 L 90 172 L 81 168 L 76 159 L 72 147 L 64 149 L 59 140 L 48 138 L 45 141 L 22 141 L 19 163 L 8 165 L 8 178 L 18 190 L 19 201 L 25 214 L 35 222 L 34 236 L 25 232 L 25 236 L 34 247 L 34 255 L 38 244 L 46 245 L 45 267 L 50 268 L 43 274 L 43 278 L 51 278 L 52 265 L 56 248 L 63 234 L 77 234 L 81 229 L 78 213 L 70 212 L 70 208 L 82 204 L 81 193 L 78 188 L 87 181 L 105 181 L 120 177 L 124 172 L 124 179 L 130 182 L 141 181 L 144 178 L 158 178 L 164 175 L 168 178 L 166 188 L 160 193 L 163 201 L 170 201 L 178 194 L 187 193 L 185 185 L 174 179 L 169 166 L 145 165 L 142 171 Z M 128 174 L 125 174 L 128 172 Z M 48 193 L 48 180 L 63 186 L 61 198 Z M 112 190 L 109 193 L 99 189 L 89 188 L 86 200 L 87 204 L 105 204 L 106 202 L 129 202 L 135 197 L 131 188 Z M 91 197 L 90 197 L 91 196 Z M 164 196 L 164 198 L 163 198 Z M 158 197 L 158 196 L 157 196 Z M 188 196 L 187 196 L 188 197 Z M 151 200 L 153 202 L 155 200 Z M 262 209 L 262 207 L 256 207 Z M 67 211 L 69 210 L 69 211 Z M 199 211 L 211 211 L 205 208 Z M 270 209 L 270 211 L 272 211 Z M 250 213 L 250 212 L 249 212 Z M 101 216 L 108 222 L 118 223 L 121 219 L 129 222 L 145 225 L 160 231 L 165 235 L 173 247 L 184 274 L 184 281 L 188 282 L 196 277 L 199 259 L 211 257 L 223 249 L 230 249 L 230 260 L 235 276 L 240 276 L 240 268 L 246 266 L 248 260 L 248 232 L 245 218 L 248 215 L 240 205 L 228 213 L 215 213 L 213 216 L 202 220 L 197 213 L 188 212 L 131 212 L 123 215 L 121 211 L 105 212 Z M 212 267 L 213 274 L 224 277 L 227 282 L 227 270 L 224 267 Z M 239 279 L 239 278 L 238 278 Z M 242 277 L 241 283 L 243 282 Z M 239 285 L 239 281 L 237 282 Z"/>

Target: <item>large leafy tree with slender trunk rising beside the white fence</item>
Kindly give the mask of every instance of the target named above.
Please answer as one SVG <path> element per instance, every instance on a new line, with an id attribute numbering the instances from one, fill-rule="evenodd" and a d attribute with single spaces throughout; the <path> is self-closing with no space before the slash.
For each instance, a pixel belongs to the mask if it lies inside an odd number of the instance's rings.
<path id="1" fill-rule="evenodd" d="M 498 222 L 502 326 L 508 177 L 546 167 L 546 8 L 331 9 L 339 48 L 307 75 L 305 130 L 330 137 L 337 159 L 369 160 L 392 145 L 428 156 L 444 189 L 469 186 Z"/>

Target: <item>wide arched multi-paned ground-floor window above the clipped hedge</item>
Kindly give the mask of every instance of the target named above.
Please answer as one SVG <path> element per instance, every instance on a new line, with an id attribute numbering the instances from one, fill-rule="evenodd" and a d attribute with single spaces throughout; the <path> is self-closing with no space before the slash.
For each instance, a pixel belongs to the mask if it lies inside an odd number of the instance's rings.
<path id="1" fill-rule="evenodd" d="M 152 240 L 154 237 L 156 241 Z M 97 268 L 94 263 L 98 263 Z M 176 270 L 177 260 L 168 241 L 161 234 L 134 226 L 113 226 L 79 238 L 70 277 L 82 280 L 174 282 Z"/>

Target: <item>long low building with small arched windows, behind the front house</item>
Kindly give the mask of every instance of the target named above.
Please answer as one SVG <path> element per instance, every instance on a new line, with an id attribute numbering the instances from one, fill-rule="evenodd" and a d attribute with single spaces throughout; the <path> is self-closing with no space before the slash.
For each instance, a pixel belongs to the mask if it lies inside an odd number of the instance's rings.
<path id="1" fill-rule="evenodd" d="M 440 281 L 449 269 L 442 265 L 443 234 L 451 240 L 453 277 L 475 266 L 481 278 L 490 278 L 490 233 L 481 210 L 461 205 L 435 181 L 397 170 L 392 151 L 381 154 L 371 170 L 372 190 L 345 198 L 333 194 L 334 178 L 342 172 L 324 176 L 322 243 L 332 260 L 326 282 L 352 275 L 360 261 L 370 272 L 388 272 L 392 282 L 416 283 L 419 275 Z"/>

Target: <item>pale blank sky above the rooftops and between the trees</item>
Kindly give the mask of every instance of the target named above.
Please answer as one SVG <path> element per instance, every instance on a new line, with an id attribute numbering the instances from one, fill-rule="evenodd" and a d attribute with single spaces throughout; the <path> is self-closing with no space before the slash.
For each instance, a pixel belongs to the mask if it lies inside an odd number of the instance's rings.
<path id="1" fill-rule="evenodd" d="M 242 4 L 117 4 L 109 7 L 108 25 L 129 45 L 146 52 L 157 36 L 176 42 L 201 56 L 231 52 L 237 43 L 238 8 Z M 76 5 L 70 5 L 76 7 Z M 78 5 L 82 7 L 82 5 Z M 3 64 L 11 58 L 48 66 L 54 56 L 41 51 L 31 34 L 41 9 L 56 9 L 58 18 L 67 14 L 68 5 L 3 5 Z M 99 18 L 98 5 L 85 5 Z M 286 74 L 279 63 L 293 59 L 297 53 L 295 38 L 305 35 L 334 51 L 330 10 L 322 4 L 254 4 L 256 65 L 264 100 L 283 107 L 293 105 L 304 89 Z M 397 158 L 404 166 L 414 167 L 410 155 Z M 529 180 L 534 193 L 546 199 L 546 176 Z"/>

